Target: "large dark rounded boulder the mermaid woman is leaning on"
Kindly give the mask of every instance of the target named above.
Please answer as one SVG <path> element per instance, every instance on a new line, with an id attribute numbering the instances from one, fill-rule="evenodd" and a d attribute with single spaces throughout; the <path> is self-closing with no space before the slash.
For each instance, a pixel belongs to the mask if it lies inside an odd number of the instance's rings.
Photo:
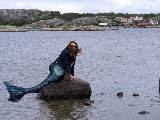
<path id="1" fill-rule="evenodd" d="M 52 83 L 38 93 L 41 100 L 89 99 L 91 96 L 89 83 L 77 78 Z"/>

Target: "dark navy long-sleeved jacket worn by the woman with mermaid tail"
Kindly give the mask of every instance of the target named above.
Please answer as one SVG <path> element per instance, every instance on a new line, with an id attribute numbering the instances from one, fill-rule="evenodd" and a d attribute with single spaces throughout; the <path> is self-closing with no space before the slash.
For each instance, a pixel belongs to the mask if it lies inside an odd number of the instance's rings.
<path id="1" fill-rule="evenodd" d="M 69 49 L 66 47 L 59 57 L 52 63 L 52 64 L 58 64 L 62 69 L 65 70 L 65 73 L 71 74 L 74 76 L 74 65 L 75 65 L 76 58 L 72 57 L 70 55 Z M 51 65 L 52 65 L 51 64 Z M 50 65 L 50 66 L 51 66 Z"/>

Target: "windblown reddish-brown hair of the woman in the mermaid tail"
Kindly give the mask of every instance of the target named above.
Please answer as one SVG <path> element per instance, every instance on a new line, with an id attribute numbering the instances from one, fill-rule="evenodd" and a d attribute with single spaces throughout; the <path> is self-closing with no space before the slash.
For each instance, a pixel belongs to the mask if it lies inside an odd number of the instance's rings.
<path id="1" fill-rule="evenodd" d="M 72 47 L 71 43 L 75 43 L 76 47 Z M 67 45 L 67 47 L 68 47 L 68 49 L 70 51 L 71 56 L 74 57 L 74 58 L 76 58 L 78 53 L 82 52 L 82 49 L 78 47 L 78 44 L 74 40 L 70 41 L 70 43 Z"/>

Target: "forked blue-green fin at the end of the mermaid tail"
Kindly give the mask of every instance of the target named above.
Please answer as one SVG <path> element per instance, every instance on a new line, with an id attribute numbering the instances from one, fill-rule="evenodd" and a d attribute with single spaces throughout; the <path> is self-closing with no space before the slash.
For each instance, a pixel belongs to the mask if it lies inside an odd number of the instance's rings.
<path id="1" fill-rule="evenodd" d="M 5 86 L 7 87 L 7 90 L 10 94 L 9 101 L 16 102 L 20 100 L 25 94 L 25 89 L 22 87 L 13 86 L 8 82 L 3 82 Z"/>

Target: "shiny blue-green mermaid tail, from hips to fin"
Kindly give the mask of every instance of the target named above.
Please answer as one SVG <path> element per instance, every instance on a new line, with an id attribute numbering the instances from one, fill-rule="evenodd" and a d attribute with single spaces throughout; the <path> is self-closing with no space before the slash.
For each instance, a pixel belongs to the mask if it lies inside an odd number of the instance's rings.
<path id="1" fill-rule="evenodd" d="M 64 70 L 58 65 L 54 65 L 52 66 L 52 70 L 50 71 L 48 77 L 35 87 L 23 88 L 23 87 L 13 86 L 8 82 L 3 82 L 3 83 L 7 87 L 7 90 L 10 94 L 10 98 L 8 100 L 14 102 L 20 100 L 27 93 L 40 92 L 45 86 L 61 80 L 63 76 L 64 76 Z"/>

